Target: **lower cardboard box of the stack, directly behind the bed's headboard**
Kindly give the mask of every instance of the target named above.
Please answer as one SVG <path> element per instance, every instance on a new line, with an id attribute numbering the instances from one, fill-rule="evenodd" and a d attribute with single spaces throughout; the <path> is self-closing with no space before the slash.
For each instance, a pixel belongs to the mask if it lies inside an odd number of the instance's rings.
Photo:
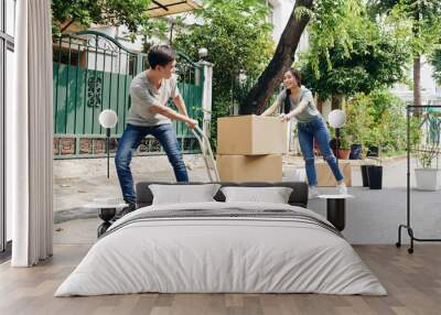
<path id="1" fill-rule="evenodd" d="M 222 182 L 281 182 L 282 155 L 217 155 Z"/>

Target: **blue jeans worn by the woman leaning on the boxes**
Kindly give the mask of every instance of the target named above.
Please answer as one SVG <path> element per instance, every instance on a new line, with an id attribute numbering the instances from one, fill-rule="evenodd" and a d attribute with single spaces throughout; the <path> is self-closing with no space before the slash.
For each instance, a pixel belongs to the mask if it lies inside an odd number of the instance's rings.
<path id="1" fill-rule="evenodd" d="M 316 172 L 314 164 L 314 139 L 319 144 L 320 152 L 322 152 L 324 160 L 330 165 L 332 173 L 337 182 L 343 180 L 342 172 L 338 169 L 337 161 L 332 153 L 330 146 L 330 133 L 321 117 L 310 122 L 298 122 L 298 133 L 300 149 L 303 153 L 303 159 L 306 166 L 308 183 L 310 186 L 316 186 Z"/>

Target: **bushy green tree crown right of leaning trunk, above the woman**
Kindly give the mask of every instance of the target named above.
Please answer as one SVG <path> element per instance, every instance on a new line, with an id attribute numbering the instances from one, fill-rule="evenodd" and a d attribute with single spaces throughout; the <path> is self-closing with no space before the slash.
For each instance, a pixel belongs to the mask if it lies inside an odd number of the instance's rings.
<path id="1" fill-rule="evenodd" d="M 388 25 L 372 22 L 359 9 L 341 28 L 344 40 L 327 43 L 326 30 L 311 28 L 311 48 L 301 64 L 303 82 L 324 100 L 391 86 L 405 78 L 409 50 Z M 324 48 L 322 42 L 332 44 Z"/>

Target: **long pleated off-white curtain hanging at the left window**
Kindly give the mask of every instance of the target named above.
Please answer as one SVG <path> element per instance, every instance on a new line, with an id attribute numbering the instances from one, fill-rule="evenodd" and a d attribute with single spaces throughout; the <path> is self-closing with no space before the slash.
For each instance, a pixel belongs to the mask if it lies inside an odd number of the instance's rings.
<path id="1" fill-rule="evenodd" d="M 7 199 L 12 209 L 11 265 L 31 267 L 53 249 L 51 1 L 18 1 L 15 23 Z"/>

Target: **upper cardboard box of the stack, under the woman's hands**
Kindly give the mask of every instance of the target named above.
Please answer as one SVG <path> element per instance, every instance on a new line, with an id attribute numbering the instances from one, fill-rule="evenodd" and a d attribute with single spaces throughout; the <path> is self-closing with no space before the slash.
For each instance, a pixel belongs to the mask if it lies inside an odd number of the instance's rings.
<path id="1" fill-rule="evenodd" d="M 255 115 L 217 119 L 217 153 L 230 155 L 283 154 L 287 123 Z"/>

